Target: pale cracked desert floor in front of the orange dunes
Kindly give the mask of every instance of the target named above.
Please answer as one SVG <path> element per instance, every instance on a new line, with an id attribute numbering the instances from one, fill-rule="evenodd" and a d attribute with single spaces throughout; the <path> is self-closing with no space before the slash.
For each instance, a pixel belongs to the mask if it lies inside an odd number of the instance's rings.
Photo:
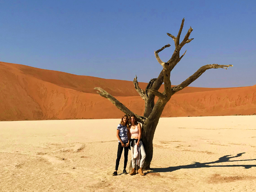
<path id="1" fill-rule="evenodd" d="M 0 191 L 256 191 L 256 116 L 161 118 L 145 176 L 112 176 L 118 123 L 0 122 Z"/>

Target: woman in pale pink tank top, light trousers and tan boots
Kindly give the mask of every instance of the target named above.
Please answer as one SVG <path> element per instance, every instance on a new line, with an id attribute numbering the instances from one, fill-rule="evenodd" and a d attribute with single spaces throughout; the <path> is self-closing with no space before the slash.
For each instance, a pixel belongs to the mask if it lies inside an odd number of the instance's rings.
<path id="1" fill-rule="evenodd" d="M 132 152 L 132 172 L 130 173 L 130 175 L 135 175 L 136 174 L 136 159 L 133 158 L 133 153 L 134 153 L 134 146 L 137 145 L 137 148 L 139 148 L 140 150 L 140 169 L 138 170 L 138 173 L 140 173 L 141 175 L 145 175 L 142 172 L 142 166 L 145 162 L 145 158 L 146 158 L 146 153 L 145 153 L 145 149 L 141 140 L 141 125 L 140 123 L 137 123 L 137 119 L 134 115 L 132 115 L 130 117 L 130 130 L 129 130 L 129 134 L 130 134 L 130 138 L 131 138 L 131 152 Z M 137 161 L 138 164 L 139 161 Z"/>

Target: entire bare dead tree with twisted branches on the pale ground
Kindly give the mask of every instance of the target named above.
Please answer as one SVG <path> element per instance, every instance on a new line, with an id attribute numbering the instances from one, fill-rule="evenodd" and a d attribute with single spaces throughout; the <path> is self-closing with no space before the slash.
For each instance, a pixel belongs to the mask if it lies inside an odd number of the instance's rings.
<path id="1" fill-rule="evenodd" d="M 207 69 L 212 68 L 225 68 L 233 67 L 233 65 L 218 65 L 218 64 L 211 64 L 211 65 L 204 65 L 203 67 L 199 68 L 192 76 L 188 77 L 185 81 L 183 81 L 181 84 L 171 87 L 171 81 L 170 81 L 170 73 L 172 69 L 176 66 L 176 64 L 182 59 L 182 57 L 185 55 L 186 52 L 184 52 L 180 56 L 180 50 L 181 48 L 191 42 L 193 40 L 189 39 L 189 36 L 193 29 L 190 27 L 188 29 L 187 34 L 185 35 L 183 41 L 180 43 L 180 34 L 184 25 L 184 18 L 180 25 L 180 30 L 178 35 L 175 37 L 171 35 L 170 33 L 167 33 L 168 36 L 172 37 L 174 43 L 175 43 L 175 50 L 172 54 L 172 57 L 167 62 L 163 62 L 158 53 L 163 51 L 165 48 L 170 47 L 170 44 L 165 45 L 161 49 L 158 49 L 155 51 L 156 60 L 163 66 L 163 70 L 159 74 L 157 78 L 151 79 L 148 83 L 145 90 L 140 89 L 137 76 L 133 80 L 134 87 L 136 91 L 140 94 L 141 98 L 145 101 L 145 109 L 144 109 L 144 115 L 136 115 L 132 111 L 130 111 L 127 107 L 125 107 L 121 102 L 116 100 L 112 95 L 110 95 L 105 90 L 95 87 L 94 89 L 99 90 L 100 96 L 107 98 L 110 100 L 117 108 L 119 108 L 121 111 L 123 111 L 128 116 L 131 116 L 134 114 L 138 122 L 142 124 L 142 140 L 144 143 L 144 148 L 146 151 L 146 160 L 144 169 L 150 169 L 150 162 L 153 157 L 153 137 L 156 130 L 156 126 L 158 124 L 159 118 L 164 110 L 164 107 L 166 103 L 171 99 L 172 95 L 176 92 L 184 89 L 189 84 L 191 84 L 193 81 L 195 81 L 199 76 L 201 76 Z M 164 83 L 164 92 L 159 92 L 160 86 Z M 158 97 L 158 100 L 155 103 L 155 96 Z"/>

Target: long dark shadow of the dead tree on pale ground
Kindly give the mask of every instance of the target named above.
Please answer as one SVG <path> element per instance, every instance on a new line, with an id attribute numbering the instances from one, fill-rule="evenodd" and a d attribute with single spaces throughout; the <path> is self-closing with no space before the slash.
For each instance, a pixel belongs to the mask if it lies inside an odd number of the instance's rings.
<path id="1" fill-rule="evenodd" d="M 225 155 L 219 158 L 217 161 L 207 162 L 207 163 L 199 163 L 193 162 L 194 164 L 189 165 L 180 165 L 175 167 L 167 167 L 167 168 L 151 168 L 154 172 L 172 172 L 179 169 L 192 169 L 192 168 L 202 168 L 202 167 L 244 167 L 245 169 L 249 169 L 252 167 L 256 167 L 256 165 L 209 165 L 209 164 L 216 164 L 216 163 L 223 163 L 223 162 L 235 162 L 235 161 L 254 161 L 256 159 L 245 159 L 245 160 L 229 160 L 231 158 L 240 157 L 244 153 L 238 153 L 236 156 Z"/>

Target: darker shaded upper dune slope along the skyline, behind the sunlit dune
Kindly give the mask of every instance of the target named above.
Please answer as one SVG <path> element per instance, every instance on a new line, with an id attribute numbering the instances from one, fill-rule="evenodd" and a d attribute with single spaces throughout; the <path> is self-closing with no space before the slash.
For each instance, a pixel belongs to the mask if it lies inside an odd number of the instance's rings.
<path id="1" fill-rule="evenodd" d="M 46 69 L 39 69 L 34 67 L 29 67 L 26 65 L 4 63 L 0 62 L 3 66 L 8 68 L 9 72 L 18 69 L 18 71 L 24 75 L 35 77 L 45 82 L 56 84 L 60 87 L 74 89 L 80 92 L 86 93 L 96 93 L 94 87 L 101 87 L 113 96 L 139 96 L 139 94 L 134 89 L 132 81 L 123 81 L 116 79 L 102 79 L 92 76 L 79 76 L 69 73 L 64 73 L 60 71 L 52 71 Z M 142 89 L 145 89 L 147 83 L 139 83 Z M 173 85 L 174 86 L 174 85 Z M 178 93 L 189 93 L 189 92 L 202 92 L 202 91 L 212 91 L 220 89 L 229 88 L 201 88 L 201 87 L 186 87 Z M 163 91 L 164 87 L 160 88 Z"/>

